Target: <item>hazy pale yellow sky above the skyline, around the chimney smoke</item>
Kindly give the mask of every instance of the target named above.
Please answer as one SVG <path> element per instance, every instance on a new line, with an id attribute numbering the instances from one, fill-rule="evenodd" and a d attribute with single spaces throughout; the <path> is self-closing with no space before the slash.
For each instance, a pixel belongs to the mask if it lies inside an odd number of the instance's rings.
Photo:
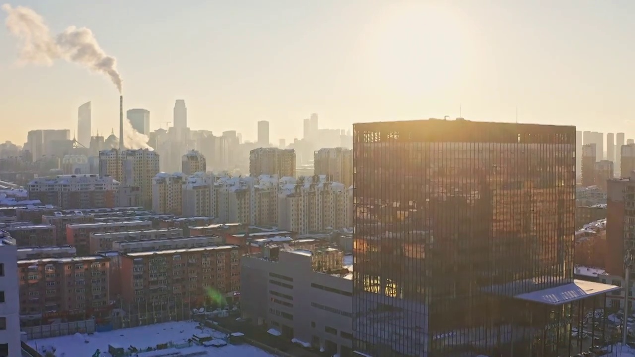
<path id="1" fill-rule="evenodd" d="M 185 99 L 189 126 L 271 141 L 320 126 L 462 115 L 577 125 L 635 136 L 635 1 L 110 0 L 14 1 L 54 33 L 89 27 L 117 58 L 125 109 L 154 130 Z M 0 140 L 28 130 L 117 127 L 108 79 L 62 61 L 18 66 L 0 29 Z M 115 130 L 117 131 L 117 129 Z"/>

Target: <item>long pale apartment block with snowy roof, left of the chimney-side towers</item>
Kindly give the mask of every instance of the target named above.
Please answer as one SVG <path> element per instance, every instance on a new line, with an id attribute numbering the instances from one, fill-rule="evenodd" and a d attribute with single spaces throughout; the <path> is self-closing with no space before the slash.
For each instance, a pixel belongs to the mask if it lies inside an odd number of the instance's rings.
<path id="1" fill-rule="evenodd" d="M 29 199 L 64 209 L 110 208 L 117 206 L 119 182 L 99 175 L 58 175 L 29 182 Z"/>

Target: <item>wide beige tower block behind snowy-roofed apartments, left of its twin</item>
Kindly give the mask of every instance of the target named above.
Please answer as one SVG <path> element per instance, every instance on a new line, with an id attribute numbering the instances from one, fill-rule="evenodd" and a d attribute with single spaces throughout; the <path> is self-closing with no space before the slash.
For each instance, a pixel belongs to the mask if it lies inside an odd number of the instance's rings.
<path id="1" fill-rule="evenodd" d="M 249 174 L 295 177 L 295 150 L 258 147 L 249 153 Z"/>

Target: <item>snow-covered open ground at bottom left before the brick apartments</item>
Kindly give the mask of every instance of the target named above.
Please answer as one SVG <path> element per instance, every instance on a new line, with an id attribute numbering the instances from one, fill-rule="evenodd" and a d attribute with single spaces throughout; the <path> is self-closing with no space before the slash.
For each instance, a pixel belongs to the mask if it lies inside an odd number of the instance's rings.
<path id="1" fill-rule="evenodd" d="M 102 353 L 102 357 L 110 357 L 108 352 L 108 344 L 117 344 L 124 349 L 130 346 L 137 349 L 147 349 L 147 347 L 156 347 L 157 344 L 173 342 L 180 344 L 187 342 L 195 333 L 210 333 L 213 337 L 222 338 L 224 333 L 204 328 L 201 331 L 197 328 L 199 325 L 193 321 L 180 321 L 159 323 L 156 325 L 147 325 L 142 327 L 123 328 L 121 330 L 112 330 L 109 332 L 95 332 L 92 335 L 76 333 L 74 335 L 50 337 L 48 339 L 30 340 L 29 346 L 43 351 L 43 347 L 55 347 L 55 355 L 57 357 L 91 357 L 97 349 Z M 88 341 L 88 343 L 86 343 Z M 228 344 L 224 347 L 201 347 L 193 346 L 180 349 L 182 353 L 194 352 L 199 349 L 207 351 L 206 356 L 241 356 L 241 357 L 272 357 L 262 349 L 253 347 L 249 344 L 239 346 Z"/>

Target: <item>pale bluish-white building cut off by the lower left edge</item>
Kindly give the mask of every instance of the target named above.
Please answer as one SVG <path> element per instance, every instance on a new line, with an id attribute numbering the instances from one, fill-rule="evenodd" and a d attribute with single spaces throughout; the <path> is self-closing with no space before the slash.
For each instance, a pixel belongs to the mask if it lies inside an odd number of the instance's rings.
<path id="1" fill-rule="evenodd" d="M 21 356 L 20 295 L 17 248 L 8 232 L 0 231 L 0 356 Z"/>

